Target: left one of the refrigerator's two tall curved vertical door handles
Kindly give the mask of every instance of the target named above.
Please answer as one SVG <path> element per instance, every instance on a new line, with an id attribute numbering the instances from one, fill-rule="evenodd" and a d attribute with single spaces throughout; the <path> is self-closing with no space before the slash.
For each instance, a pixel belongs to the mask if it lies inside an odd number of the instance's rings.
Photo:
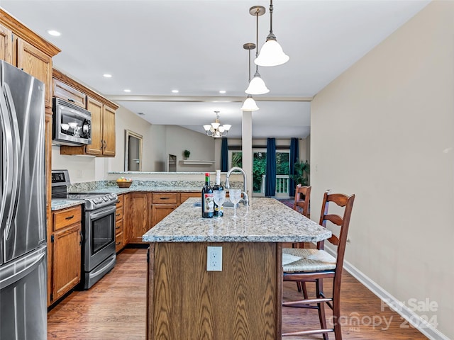
<path id="1" fill-rule="evenodd" d="M 5 140 L 5 153 L 6 159 L 4 159 L 4 171 L 6 172 L 5 178 L 1 179 L 4 181 L 4 192 L 1 196 L 1 208 L 0 208 L 0 238 L 4 234 L 4 229 L 9 220 L 9 207 L 11 206 L 11 195 L 12 195 L 12 186 L 13 186 L 13 176 L 14 176 L 14 164 L 12 161 L 13 158 L 13 128 L 11 126 L 11 116 L 9 114 L 8 107 L 6 106 L 6 101 L 4 98 L 4 88 L 0 84 L 0 114 L 1 114 L 1 130 L 4 135 Z"/>

